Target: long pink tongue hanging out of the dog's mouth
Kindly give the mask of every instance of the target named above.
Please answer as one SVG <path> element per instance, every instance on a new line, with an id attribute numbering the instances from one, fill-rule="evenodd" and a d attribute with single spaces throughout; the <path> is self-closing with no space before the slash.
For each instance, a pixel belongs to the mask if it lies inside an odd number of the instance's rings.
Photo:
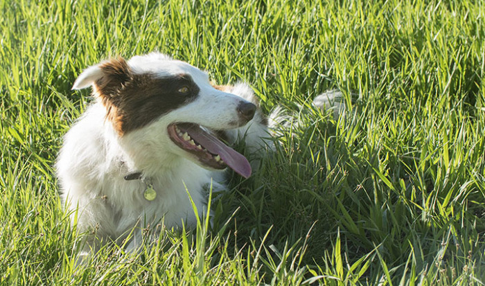
<path id="1" fill-rule="evenodd" d="M 229 148 L 222 143 L 217 137 L 205 132 L 198 125 L 190 125 L 186 128 L 186 132 L 200 145 L 204 146 L 209 152 L 219 154 L 220 158 L 226 163 L 229 168 L 237 172 L 239 175 L 249 178 L 251 176 L 251 165 L 246 157 Z"/>

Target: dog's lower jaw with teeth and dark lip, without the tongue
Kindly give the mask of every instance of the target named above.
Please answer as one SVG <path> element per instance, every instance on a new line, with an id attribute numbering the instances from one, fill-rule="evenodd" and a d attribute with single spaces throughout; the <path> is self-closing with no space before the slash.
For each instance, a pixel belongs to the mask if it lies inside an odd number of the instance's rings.
<path id="1" fill-rule="evenodd" d="M 170 124 L 167 127 L 168 136 L 180 149 L 188 154 L 188 158 L 198 163 L 203 168 L 209 170 L 223 170 L 227 164 L 221 159 L 219 154 L 209 152 L 204 145 L 197 142 L 188 132 L 188 129 L 199 125 L 194 123 Z M 199 128 L 200 129 L 200 128 Z"/>

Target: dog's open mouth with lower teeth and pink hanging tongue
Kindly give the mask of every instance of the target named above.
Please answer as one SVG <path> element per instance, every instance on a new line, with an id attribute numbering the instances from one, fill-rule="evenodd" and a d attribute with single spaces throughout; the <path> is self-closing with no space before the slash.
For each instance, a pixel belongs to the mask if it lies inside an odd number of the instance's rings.
<path id="1" fill-rule="evenodd" d="M 199 125 L 193 123 L 168 125 L 168 136 L 179 148 L 194 154 L 204 166 L 213 169 L 224 169 L 229 166 L 245 178 L 251 175 L 251 166 L 242 154 L 204 131 Z"/>

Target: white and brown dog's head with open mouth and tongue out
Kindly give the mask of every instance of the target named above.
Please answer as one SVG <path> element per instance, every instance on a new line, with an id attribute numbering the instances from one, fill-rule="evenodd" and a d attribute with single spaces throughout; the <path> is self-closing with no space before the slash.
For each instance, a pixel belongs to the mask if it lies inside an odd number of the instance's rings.
<path id="1" fill-rule="evenodd" d="M 206 168 L 251 174 L 245 157 L 207 129 L 243 126 L 256 106 L 216 89 L 200 69 L 159 53 L 119 57 L 83 71 L 73 89 L 89 86 L 121 140 L 143 141 L 147 152 L 173 152 Z"/>

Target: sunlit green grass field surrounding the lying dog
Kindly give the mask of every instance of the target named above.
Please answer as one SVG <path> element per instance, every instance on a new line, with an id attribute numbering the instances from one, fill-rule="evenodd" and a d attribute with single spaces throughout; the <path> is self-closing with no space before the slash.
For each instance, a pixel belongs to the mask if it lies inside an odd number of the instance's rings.
<path id="1" fill-rule="evenodd" d="M 414 2 L 414 3 L 410 3 Z M 0 285 L 484 285 L 483 1 L 0 0 Z M 266 112 L 340 89 L 212 228 L 167 230 L 78 268 L 53 175 L 89 104 L 71 91 L 110 56 L 169 53 Z"/>

